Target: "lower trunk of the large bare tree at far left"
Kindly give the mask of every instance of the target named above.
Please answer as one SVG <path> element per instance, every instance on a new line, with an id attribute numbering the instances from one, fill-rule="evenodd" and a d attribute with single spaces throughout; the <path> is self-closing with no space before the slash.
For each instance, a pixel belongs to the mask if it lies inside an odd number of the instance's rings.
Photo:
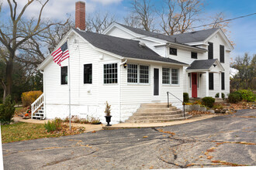
<path id="1" fill-rule="evenodd" d="M 9 61 L 6 63 L 6 91 L 5 96 L 12 94 L 12 73 L 13 73 L 13 58 L 14 53 L 10 54 Z"/>

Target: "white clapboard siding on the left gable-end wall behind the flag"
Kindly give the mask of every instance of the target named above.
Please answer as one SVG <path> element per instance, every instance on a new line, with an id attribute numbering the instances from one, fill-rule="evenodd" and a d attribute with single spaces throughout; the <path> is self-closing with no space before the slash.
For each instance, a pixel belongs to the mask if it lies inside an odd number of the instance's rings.
<path id="1" fill-rule="evenodd" d="M 118 84 L 103 84 L 103 64 L 119 63 L 119 59 L 104 55 L 92 49 L 88 43 L 78 39 L 78 43 L 71 45 L 71 104 L 104 104 L 106 98 L 118 103 L 116 88 Z M 72 38 L 70 40 L 72 42 Z M 67 66 L 67 59 L 62 66 Z M 84 64 L 92 63 L 92 84 L 84 84 Z M 45 70 L 45 86 L 47 104 L 68 104 L 68 85 L 61 85 L 61 66 L 50 62 Z M 91 90 L 88 93 L 88 90 Z M 111 97 L 110 97 L 111 96 Z"/>

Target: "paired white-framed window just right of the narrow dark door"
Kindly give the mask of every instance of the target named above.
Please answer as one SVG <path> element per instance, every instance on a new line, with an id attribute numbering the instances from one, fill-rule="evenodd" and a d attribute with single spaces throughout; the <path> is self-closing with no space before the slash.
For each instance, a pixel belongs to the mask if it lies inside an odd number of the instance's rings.
<path id="1" fill-rule="evenodd" d="M 178 85 L 178 69 L 163 68 L 162 83 Z"/>

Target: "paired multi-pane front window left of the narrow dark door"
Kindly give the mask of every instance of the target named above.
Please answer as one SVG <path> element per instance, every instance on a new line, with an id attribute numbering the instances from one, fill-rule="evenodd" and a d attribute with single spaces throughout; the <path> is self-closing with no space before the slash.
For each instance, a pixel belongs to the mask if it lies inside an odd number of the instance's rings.
<path id="1" fill-rule="evenodd" d="M 149 66 L 127 64 L 127 83 L 149 83 Z"/>

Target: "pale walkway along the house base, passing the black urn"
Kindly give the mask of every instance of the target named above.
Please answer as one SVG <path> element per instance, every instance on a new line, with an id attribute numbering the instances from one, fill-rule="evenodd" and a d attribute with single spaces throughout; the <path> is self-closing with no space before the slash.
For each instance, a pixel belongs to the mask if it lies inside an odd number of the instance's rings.
<path id="1" fill-rule="evenodd" d="M 76 127 L 85 127 L 85 132 L 89 131 L 100 131 L 102 129 L 104 130 L 112 130 L 112 129 L 123 129 L 123 128 L 157 128 L 157 127 L 166 127 L 166 126 L 173 126 L 176 124 L 186 124 L 191 123 L 194 121 L 201 121 L 204 119 L 208 119 L 211 117 L 216 117 L 216 114 L 210 114 L 210 115 L 202 115 L 199 117 L 192 117 L 186 120 L 182 121 L 169 121 L 169 122 L 163 122 L 163 123 L 142 123 L 142 124 L 127 124 L 127 123 L 121 123 L 121 124 L 112 124 L 112 126 L 106 126 L 106 124 L 74 124 L 72 123 L 71 126 Z M 14 117 L 14 121 L 22 121 L 26 123 L 33 123 L 33 124 L 44 124 L 47 123 L 48 120 L 34 120 L 34 119 L 22 119 L 21 117 Z"/>

